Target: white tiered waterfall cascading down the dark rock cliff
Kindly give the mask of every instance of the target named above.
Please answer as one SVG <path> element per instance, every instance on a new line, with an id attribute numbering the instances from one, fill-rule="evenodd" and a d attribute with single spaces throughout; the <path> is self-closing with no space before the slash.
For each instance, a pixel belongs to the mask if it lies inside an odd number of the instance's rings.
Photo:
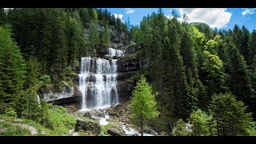
<path id="1" fill-rule="evenodd" d="M 121 56 L 124 53 L 120 51 L 111 54 Z M 82 110 L 118 104 L 117 69 L 117 59 L 81 58 L 79 88 L 82 91 Z"/>

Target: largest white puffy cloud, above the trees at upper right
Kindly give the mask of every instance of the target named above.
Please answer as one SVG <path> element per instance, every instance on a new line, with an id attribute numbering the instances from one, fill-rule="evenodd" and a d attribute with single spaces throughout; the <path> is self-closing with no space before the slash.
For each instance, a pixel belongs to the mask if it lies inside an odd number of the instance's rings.
<path id="1" fill-rule="evenodd" d="M 218 29 L 226 26 L 232 15 L 225 8 L 180 8 L 178 11 L 181 15 L 188 16 L 188 22 L 205 22 Z"/>

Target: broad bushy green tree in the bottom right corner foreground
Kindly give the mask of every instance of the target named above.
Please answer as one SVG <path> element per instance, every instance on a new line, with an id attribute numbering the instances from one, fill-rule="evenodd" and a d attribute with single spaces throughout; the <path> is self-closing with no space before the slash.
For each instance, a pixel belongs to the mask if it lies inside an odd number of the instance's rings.
<path id="1" fill-rule="evenodd" d="M 214 94 L 210 114 L 216 122 L 217 134 L 221 136 L 255 134 L 251 113 L 246 106 L 231 94 Z"/>

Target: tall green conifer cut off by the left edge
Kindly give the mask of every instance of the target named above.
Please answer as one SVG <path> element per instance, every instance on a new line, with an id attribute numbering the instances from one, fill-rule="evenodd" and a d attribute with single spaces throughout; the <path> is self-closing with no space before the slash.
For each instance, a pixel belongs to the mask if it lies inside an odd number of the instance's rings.
<path id="1" fill-rule="evenodd" d="M 0 26 L 0 94 L 1 101 L 14 107 L 14 100 L 23 87 L 26 65 L 10 30 Z"/>

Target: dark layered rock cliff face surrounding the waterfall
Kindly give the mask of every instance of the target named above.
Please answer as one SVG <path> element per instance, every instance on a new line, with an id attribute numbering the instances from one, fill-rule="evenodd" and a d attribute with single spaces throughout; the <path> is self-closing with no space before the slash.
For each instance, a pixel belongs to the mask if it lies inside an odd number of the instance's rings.
<path id="1" fill-rule="evenodd" d="M 104 30 L 103 26 L 97 25 L 98 31 L 101 33 Z M 89 38 L 89 29 L 84 30 L 86 38 Z M 127 102 L 130 100 L 130 95 L 134 90 L 135 83 L 129 82 L 129 78 L 132 74 L 136 73 L 142 66 L 142 59 L 136 58 L 130 53 L 134 53 L 134 50 L 137 50 L 133 43 L 129 43 L 126 38 L 126 34 L 118 35 L 116 30 L 110 29 L 110 47 L 118 50 L 125 51 L 125 56 L 116 57 L 110 56 L 108 54 L 108 49 L 105 47 L 97 48 L 97 57 L 94 58 L 105 58 L 111 60 L 112 58 L 118 59 L 118 95 L 119 102 Z M 82 93 L 79 90 L 79 76 L 80 67 L 75 67 L 74 70 L 77 74 L 73 76 L 74 86 L 65 87 L 64 90 L 60 93 L 48 93 L 43 94 L 42 96 L 46 98 L 48 102 L 53 102 L 54 104 L 65 104 L 67 102 L 75 102 L 77 107 L 80 107 Z"/>

